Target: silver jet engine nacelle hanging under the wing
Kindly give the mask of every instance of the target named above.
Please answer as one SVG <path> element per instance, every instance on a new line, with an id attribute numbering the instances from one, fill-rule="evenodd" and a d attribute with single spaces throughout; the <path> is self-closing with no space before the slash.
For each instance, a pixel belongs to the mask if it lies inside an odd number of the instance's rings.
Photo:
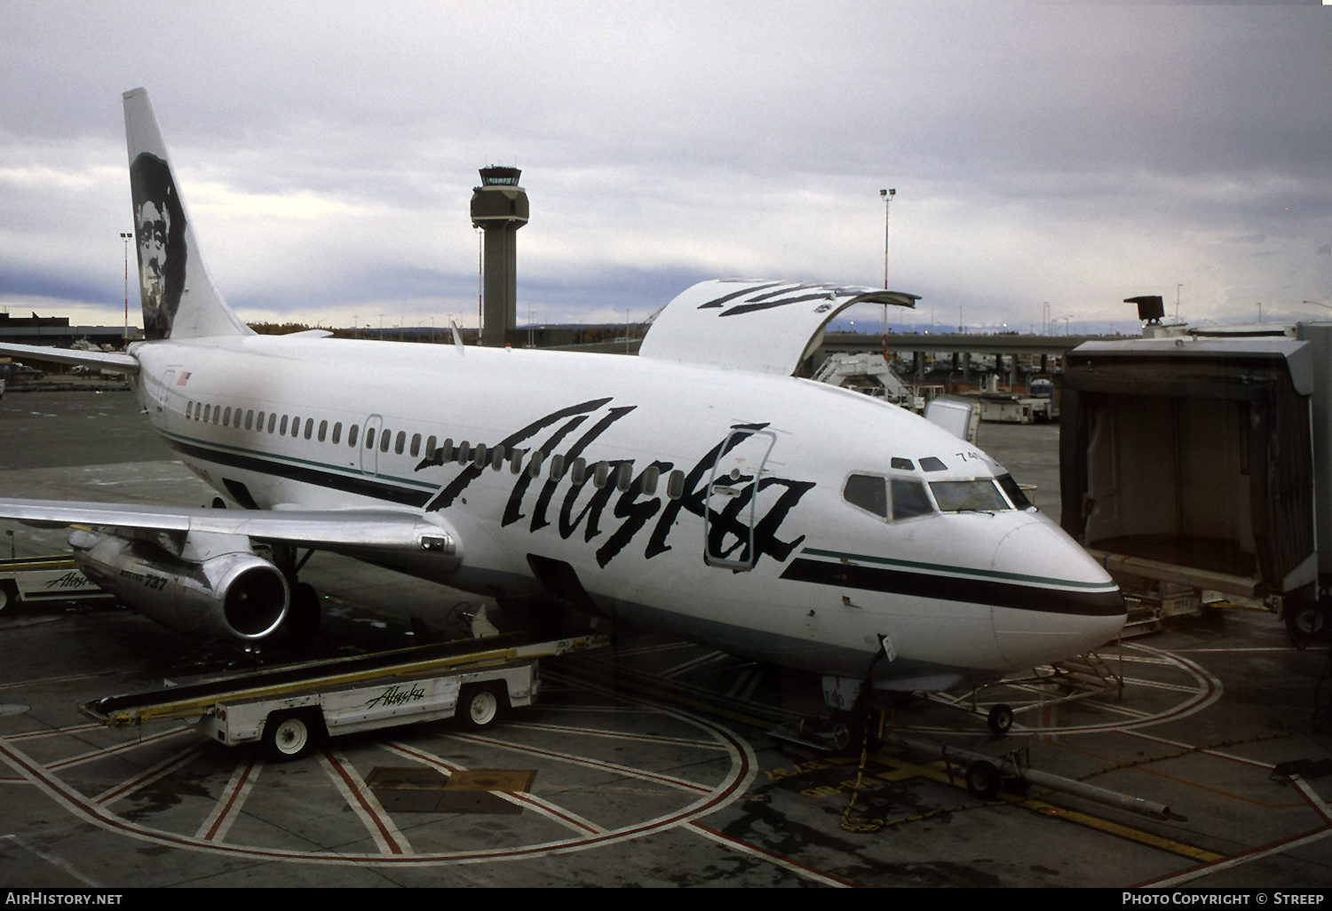
<path id="1" fill-rule="evenodd" d="M 177 633 L 252 642 L 286 617 L 286 578 L 248 542 L 201 559 L 93 531 L 73 531 L 69 543 L 84 575 Z"/>

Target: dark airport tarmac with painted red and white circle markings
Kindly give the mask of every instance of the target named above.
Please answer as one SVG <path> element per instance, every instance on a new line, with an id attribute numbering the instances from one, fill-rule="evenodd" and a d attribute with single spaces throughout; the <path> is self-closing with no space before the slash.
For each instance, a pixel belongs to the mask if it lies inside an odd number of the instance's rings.
<path id="1" fill-rule="evenodd" d="M 1058 428 L 986 424 L 980 445 L 1058 509 Z M 131 396 L 25 393 L 0 401 L 0 495 L 194 505 L 201 486 Z M 60 530 L 0 530 L 13 531 L 0 555 L 65 549 Z M 324 595 L 313 649 L 328 655 L 410 645 L 390 607 L 476 603 L 330 555 L 302 579 Z M 771 734 L 818 709 L 817 679 L 646 634 L 545 662 L 539 703 L 484 733 L 349 735 L 293 763 L 182 722 L 103 729 L 77 711 L 296 655 L 185 639 L 112 605 L 0 611 L 0 887 L 1332 884 L 1328 651 L 1295 650 L 1267 613 L 1179 618 L 1107 646 L 1122 690 L 1052 702 L 1015 682 L 975 711 L 918 698 L 883 718 L 1183 819 L 1043 786 L 980 799 L 934 751 L 874 746 L 860 775 L 859 751 Z M 995 702 L 1015 709 L 1006 738 L 986 727 Z M 1277 774 L 1292 762 L 1303 776 Z M 510 790 L 405 807 L 373 786 L 404 768 Z"/>

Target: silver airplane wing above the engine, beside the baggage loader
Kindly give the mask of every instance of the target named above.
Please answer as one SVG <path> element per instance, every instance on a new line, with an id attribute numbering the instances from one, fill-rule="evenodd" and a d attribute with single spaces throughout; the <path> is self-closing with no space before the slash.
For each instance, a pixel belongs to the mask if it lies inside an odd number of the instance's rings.
<path id="1" fill-rule="evenodd" d="M 240 510 L 176 509 L 141 503 L 0 498 L 0 519 L 44 527 L 89 526 L 120 534 L 165 531 L 246 535 L 256 541 L 322 550 L 456 554 L 458 537 L 442 521 L 388 509 Z"/>

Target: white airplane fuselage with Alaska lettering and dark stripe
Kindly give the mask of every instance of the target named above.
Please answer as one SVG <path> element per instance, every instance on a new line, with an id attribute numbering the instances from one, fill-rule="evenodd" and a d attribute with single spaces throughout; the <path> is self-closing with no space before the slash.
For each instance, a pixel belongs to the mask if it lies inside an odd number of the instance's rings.
<path id="1" fill-rule="evenodd" d="M 1003 474 L 858 393 L 635 357 L 312 337 L 136 354 L 155 428 L 229 499 L 424 510 L 461 566 L 394 567 L 501 602 L 585 599 L 825 674 L 863 677 L 882 655 L 876 678 L 939 687 L 1086 651 L 1124 619 L 1110 577 L 1034 509 L 894 518 L 848 502 L 851 475 L 928 489 Z"/>

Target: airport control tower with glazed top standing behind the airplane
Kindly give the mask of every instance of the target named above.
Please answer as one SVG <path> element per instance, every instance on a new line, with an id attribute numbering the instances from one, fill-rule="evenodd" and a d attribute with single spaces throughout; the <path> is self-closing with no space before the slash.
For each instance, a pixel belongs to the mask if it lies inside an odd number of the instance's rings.
<path id="1" fill-rule="evenodd" d="M 472 193 L 472 224 L 486 232 L 481 344 L 503 348 L 518 321 L 518 229 L 527 224 L 527 193 L 517 168 L 481 169 Z"/>

